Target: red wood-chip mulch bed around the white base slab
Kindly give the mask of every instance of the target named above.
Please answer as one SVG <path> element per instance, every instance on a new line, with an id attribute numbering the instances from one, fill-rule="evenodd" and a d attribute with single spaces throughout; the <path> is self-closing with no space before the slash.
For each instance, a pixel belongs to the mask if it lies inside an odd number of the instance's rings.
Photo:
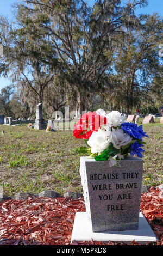
<path id="1" fill-rule="evenodd" d="M 151 225 L 158 242 L 163 245 L 163 190 L 151 187 L 141 194 L 140 210 Z M 71 245 L 74 216 L 85 211 L 84 199 L 31 198 L 0 202 L 0 245 Z M 73 245 L 104 245 L 82 241 Z M 109 241 L 108 245 L 125 245 Z M 139 245 L 135 241 L 130 245 Z"/>

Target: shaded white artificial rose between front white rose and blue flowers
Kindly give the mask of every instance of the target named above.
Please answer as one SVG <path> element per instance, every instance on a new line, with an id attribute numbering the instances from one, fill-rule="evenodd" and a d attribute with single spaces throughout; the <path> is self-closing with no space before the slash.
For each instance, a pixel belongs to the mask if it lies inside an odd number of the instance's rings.
<path id="1" fill-rule="evenodd" d="M 127 133 L 124 133 L 121 129 L 112 129 L 111 132 L 111 142 L 113 143 L 116 149 L 120 149 L 121 146 L 127 145 L 129 142 L 132 141 L 131 138 Z"/>

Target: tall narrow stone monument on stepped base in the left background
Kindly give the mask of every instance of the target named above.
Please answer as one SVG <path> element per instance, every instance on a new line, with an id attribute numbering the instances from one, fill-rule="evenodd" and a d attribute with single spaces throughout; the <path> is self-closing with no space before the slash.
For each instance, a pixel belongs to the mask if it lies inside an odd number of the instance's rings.
<path id="1" fill-rule="evenodd" d="M 36 119 L 34 124 L 35 130 L 44 130 L 47 127 L 47 123 L 42 117 L 42 103 L 36 105 Z"/>

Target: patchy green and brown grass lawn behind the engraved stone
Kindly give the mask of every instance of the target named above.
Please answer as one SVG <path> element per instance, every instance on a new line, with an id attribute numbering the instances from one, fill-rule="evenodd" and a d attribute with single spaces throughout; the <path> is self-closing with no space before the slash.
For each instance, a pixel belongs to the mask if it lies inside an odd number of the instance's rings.
<path id="1" fill-rule="evenodd" d="M 142 119 L 140 118 L 139 124 Z M 8 196 L 17 192 L 39 193 L 54 190 L 60 194 L 82 191 L 79 174 L 80 156 L 76 149 L 85 143 L 75 139 L 72 131 L 46 133 L 27 126 L 0 126 L 0 186 Z M 163 124 L 143 125 L 143 184 L 163 183 Z"/>

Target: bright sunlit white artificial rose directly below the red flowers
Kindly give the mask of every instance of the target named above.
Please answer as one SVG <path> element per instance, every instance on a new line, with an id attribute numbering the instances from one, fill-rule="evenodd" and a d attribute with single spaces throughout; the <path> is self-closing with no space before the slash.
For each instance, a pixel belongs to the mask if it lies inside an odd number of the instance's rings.
<path id="1" fill-rule="evenodd" d="M 99 129 L 97 132 L 93 131 L 87 144 L 91 147 L 92 153 L 103 152 L 108 148 L 111 140 L 111 131 Z"/>

